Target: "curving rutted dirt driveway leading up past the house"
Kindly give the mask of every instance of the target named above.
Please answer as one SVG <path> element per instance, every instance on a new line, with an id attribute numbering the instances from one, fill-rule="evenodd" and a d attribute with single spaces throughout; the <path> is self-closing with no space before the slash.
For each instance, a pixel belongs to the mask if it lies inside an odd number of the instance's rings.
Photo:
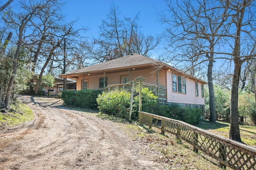
<path id="1" fill-rule="evenodd" d="M 20 96 L 34 121 L 0 132 L 0 169 L 163 169 L 121 124 L 66 109 L 60 99 Z"/>

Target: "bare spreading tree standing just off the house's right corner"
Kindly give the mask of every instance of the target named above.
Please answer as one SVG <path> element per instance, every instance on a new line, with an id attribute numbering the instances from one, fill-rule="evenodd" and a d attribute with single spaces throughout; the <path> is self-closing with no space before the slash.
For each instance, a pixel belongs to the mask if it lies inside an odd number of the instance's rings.
<path id="1" fill-rule="evenodd" d="M 170 61 L 190 61 L 193 67 L 208 61 L 210 121 L 216 122 L 212 70 L 215 46 L 221 39 L 220 32 L 224 31 L 222 25 L 227 20 L 227 6 L 211 1 L 212 6 L 209 7 L 208 2 L 210 1 L 167 0 L 168 10 L 167 13 L 160 14 L 160 21 L 170 25 L 164 35 L 167 49 L 173 56 Z M 219 13 L 223 15 L 218 15 Z M 180 53 L 191 47 L 192 53 Z"/>

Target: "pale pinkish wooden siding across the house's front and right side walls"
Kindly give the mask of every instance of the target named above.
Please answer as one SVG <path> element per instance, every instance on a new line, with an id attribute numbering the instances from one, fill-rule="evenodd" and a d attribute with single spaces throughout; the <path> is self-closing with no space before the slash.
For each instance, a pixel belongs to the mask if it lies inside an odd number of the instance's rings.
<path id="1" fill-rule="evenodd" d="M 155 84 L 157 82 L 156 72 L 154 74 L 151 73 L 152 69 L 141 69 L 141 70 L 130 70 L 130 80 L 132 81 L 135 78 L 142 76 L 146 78 L 145 83 Z M 116 73 L 108 73 L 106 72 L 107 84 L 120 84 L 121 76 L 128 75 L 127 71 L 116 72 Z M 104 73 L 96 74 L 96 75 L 84 75 L 84 79 L 88 80 L 88 88 L 89 89 L 102 89 L 99 88 L 99 79 L 104 77 Z M 81 90 L 81 82 L 83 80 L 83 76 L 80 76 L 77 79 L 76 90 Z M 172 92 L 172 72 L 166 69 L 161 69 L 158 72 L 158 82 L 160 86 L 167 87 L 167 102 L 174 103 L 182 103 L 182 104 L 200 104 L 204 105 L 204 98 L 201 97 L 201 83 L 198 82 L 198 97 L 196 97 L 195 91 L 195 80 L 190 78 L 186 78 L 186 94 L 181 94 L 178 92 Z"/>

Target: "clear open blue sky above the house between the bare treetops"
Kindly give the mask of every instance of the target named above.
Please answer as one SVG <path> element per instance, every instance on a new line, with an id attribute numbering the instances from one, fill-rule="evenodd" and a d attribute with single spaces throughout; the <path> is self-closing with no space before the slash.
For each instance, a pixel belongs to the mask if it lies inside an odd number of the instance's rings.
<path id="1" fill-rule="evenodd" d="M 164 0 L 67 0 L 63 14 L 67 21 L 76 20 L 77 26 L 88 27 L 85 33 L 87 37 L 97 38 L 99 26 L 110 11 L 110 5 L 115 3 L 120 10 L 120 19 L 134 18 L 140 12 L 138 25 L 144 35 L 158 35 L 164 31 L 164 25 L 157 21 L 157 10 L 166 9 Z"/>

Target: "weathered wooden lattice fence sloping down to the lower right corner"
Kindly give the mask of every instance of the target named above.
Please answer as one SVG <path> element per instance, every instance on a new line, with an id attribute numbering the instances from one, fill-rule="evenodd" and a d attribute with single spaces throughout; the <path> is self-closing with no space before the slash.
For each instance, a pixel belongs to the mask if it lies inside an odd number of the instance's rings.
<path id="1" fill-rule="evenodd" d="M 164 132 L 176 135 L 205 154 L 220 162 L 220 166 L 226 166 L 235 170 L 255 170 L 256 169 L 256 149 L 210 133 L 188 123 L 153 115 L 139 111 L 139 122 L 149 125 L 149 128 L 156 127 Z M 152 122 L 154 122 L 152 124 Z M 159 126 L 161 125 L 161 126 Z"/>

